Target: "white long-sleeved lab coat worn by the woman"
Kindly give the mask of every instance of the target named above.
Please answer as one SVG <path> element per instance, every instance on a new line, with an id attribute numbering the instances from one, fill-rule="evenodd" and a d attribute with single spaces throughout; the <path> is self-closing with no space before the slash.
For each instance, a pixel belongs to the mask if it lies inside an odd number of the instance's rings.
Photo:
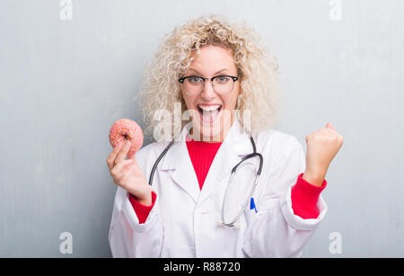
<path id="1" fill-rule="evenodd" d="M 301 256 L 327 206 L 320 196 L 318 218 L 294 215 L 291 187 L 305 168 L 303 147 L 297 139 L 275 129 L 254 137 L 264 160 L 253 196 L 258 212 L 246 208 L 239 227 L 225 227 L 219 223 L 224 191 L 233 166 L 252 152 L 250 137 L 234 120 L 200 191 L 186 146 L 190 128 L 191 122 L 155 170 L 152 189 L 157 199 L 144 224 L 139 224 L 128 192 L 118 187 L 109 233 L 113 257 Z M 152 143 L 136 153 L 147 180 L 168 144 Z M 252 185 L 255 174 L 248 178 Z"/>

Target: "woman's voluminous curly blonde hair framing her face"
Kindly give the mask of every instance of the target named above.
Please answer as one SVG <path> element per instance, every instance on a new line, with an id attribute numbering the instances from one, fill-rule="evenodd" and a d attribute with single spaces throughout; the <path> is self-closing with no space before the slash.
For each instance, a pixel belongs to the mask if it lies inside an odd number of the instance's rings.
<path id="1" fill-rule="evenodd" d="M 171 123 L 176 121 L 173 118 L 175 102 L 177 110 L 180 102 L 181 114 L 187 111 L 178 79 L 187 72 L 192 53 L 198 53 L 205 45 L 220 45 L 233 50 L 242 88 L 235 115 L 241 122 L 242 131 L 255 136 L 275 123 L 280 100 L 276 59 L 268 54 L 267 47 L 255 31 L 243 23 L 232 24 L 221 15 L 209 14 L 190 20 L 166 35 L 154 58 L 145 67 L 145 83 L 139 96 L 143 98 L 141 111 L 147 137 L 155 135 L 157 125 L 171 130 L 166 138 L 177 136 Z M 250 111 L 249 123 L 243 121 L 244 111 Z M 165 117 L 163 121 L 162 115 Z M 180 129 L 189 120 L 181 118 Z"/>

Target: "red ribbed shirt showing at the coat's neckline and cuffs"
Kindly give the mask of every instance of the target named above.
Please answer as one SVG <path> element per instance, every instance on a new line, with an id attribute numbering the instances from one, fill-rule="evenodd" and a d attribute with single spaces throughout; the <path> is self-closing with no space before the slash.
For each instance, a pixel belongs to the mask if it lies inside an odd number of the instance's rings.
<path id="1" fill-rule="evenodd" d="M 190 140 L 186 143 L 189 157 L 194 166 L 195 173 L 197 174 L 199 189 L 202 190 L 207 172 L 209 171 L 210 165 L 212 165 L 216 152 L 222 145 L 222 142 L 206 143 Z M 321 187 L 317 187 L 306 182 L 302 176 L 303 174 L 297 176 L 296 183 L 291 192 L 294 215 L 301 218 L 317 218 L 319 216 L 319 210 L 316 207 L 317 200 L 319 199 L 321 191 L 326 187 L 327 182 L 324 180 Z M 134 197 L 129 197 L 129 200 L 135 209 L 137 218 L 139 219 L 139 223 L 145 223 L 150 210 L 153 209 L 156 198 L 157 195 L 152 191 L 152 205 L 145 206 L 137 202 Z"/>

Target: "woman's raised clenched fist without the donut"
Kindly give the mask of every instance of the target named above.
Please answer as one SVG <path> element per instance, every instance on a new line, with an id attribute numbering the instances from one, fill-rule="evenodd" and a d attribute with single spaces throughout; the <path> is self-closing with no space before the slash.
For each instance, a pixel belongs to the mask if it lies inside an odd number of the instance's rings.
<path id="1" fill-rule="evenodd" d="M 319 129 L 306 136 L 306 169 L 303 179 L 308 183 L 321 186 L 334 156 L 344 142 L 336 129 L 327 123 L 326 128 Z"/>

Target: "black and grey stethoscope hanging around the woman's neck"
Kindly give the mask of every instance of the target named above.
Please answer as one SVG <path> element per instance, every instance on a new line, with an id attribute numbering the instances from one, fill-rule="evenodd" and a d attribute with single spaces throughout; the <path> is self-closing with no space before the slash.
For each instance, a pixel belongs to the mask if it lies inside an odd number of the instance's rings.
<path id="1" fill-rule="evenodd" d="M 234 223 L 237 221 L 237 219 L 239 219 L 240 216 L 242 216 L 242 213 L 243 213 L 244 209 L 246 209 L 249 202 L 252 201 L 252 194 L 254 193 L 255 188 L 257 187 L 257 185 L 259 183 L 259 175 L 261 174 L 261 171 L 262 171 L 263 157 L 262 157 L 261 154 L 259 154 L 257 152 L 257 148 L 255 147 L 254 139 L 251 136 L 250 136 L 250 141 L 251 141 L 253 152 L 251 154 L 247 155 L 247 156 L 243 156 L 242 160 L 237 165 L 233 166 L 232 174 L 230 175 L 230 179 L 229 179 L 229 182 L 227 183 L 226 191 L 224 192 L 224 201 L 223 201 L 223 205 L 222 205 L 222 220 L 223 220 L 222 224 L 224 226 L 226 226 L 226 227 L 233 227 Z M 149 185 L 150 186 L 152 186 L 154 172 L 155 172 L 155 169 L 156 169 L 157 165 L 160 163 L 160 161 L 162 160 L 162 157 L 167 153 L 167 151 L 170 149 L 170 147 L 172 146 L 173 143 L 174 143 L 174 140 L 172 140 L 170 142 L 170 144 L 167 147 L 164 148 L 164 150 L 162 151 L 162 154 L 154 162 L 152 172 L 150 173 L 150 178 L 149 178 Z M 227 191 L 228 191 L 229 187 L 232 185 L 233 175 L 236 173 L 237 167 L 239 167 L 239 165 L 241 165 L 243 162 L 245 162 L 246 160 L 248 160 L 250 158 L 253 158 L 253 157 L 259 157 L 259 169 L 257 170 L 257 174 L 255 176 L 254 184 L 251 187 L 249 196 L 247 197 L 247 200 L 245 200 L 245 202 L 243 203 L 243 205 L 242 205 L 243 208 L 239 211 L 237 216 L 234 217 L 233 219 L 231 219 L 230 221 L 225 221 L 225 219 L 224 219 L 224 202 L 225 202 L 225 199 L 226 199 Z M 250 199 L 251 199 L 251 201 L 250 201 Z M 255 205 L 255 203 L 254 203 L 254 205 Z"/>

